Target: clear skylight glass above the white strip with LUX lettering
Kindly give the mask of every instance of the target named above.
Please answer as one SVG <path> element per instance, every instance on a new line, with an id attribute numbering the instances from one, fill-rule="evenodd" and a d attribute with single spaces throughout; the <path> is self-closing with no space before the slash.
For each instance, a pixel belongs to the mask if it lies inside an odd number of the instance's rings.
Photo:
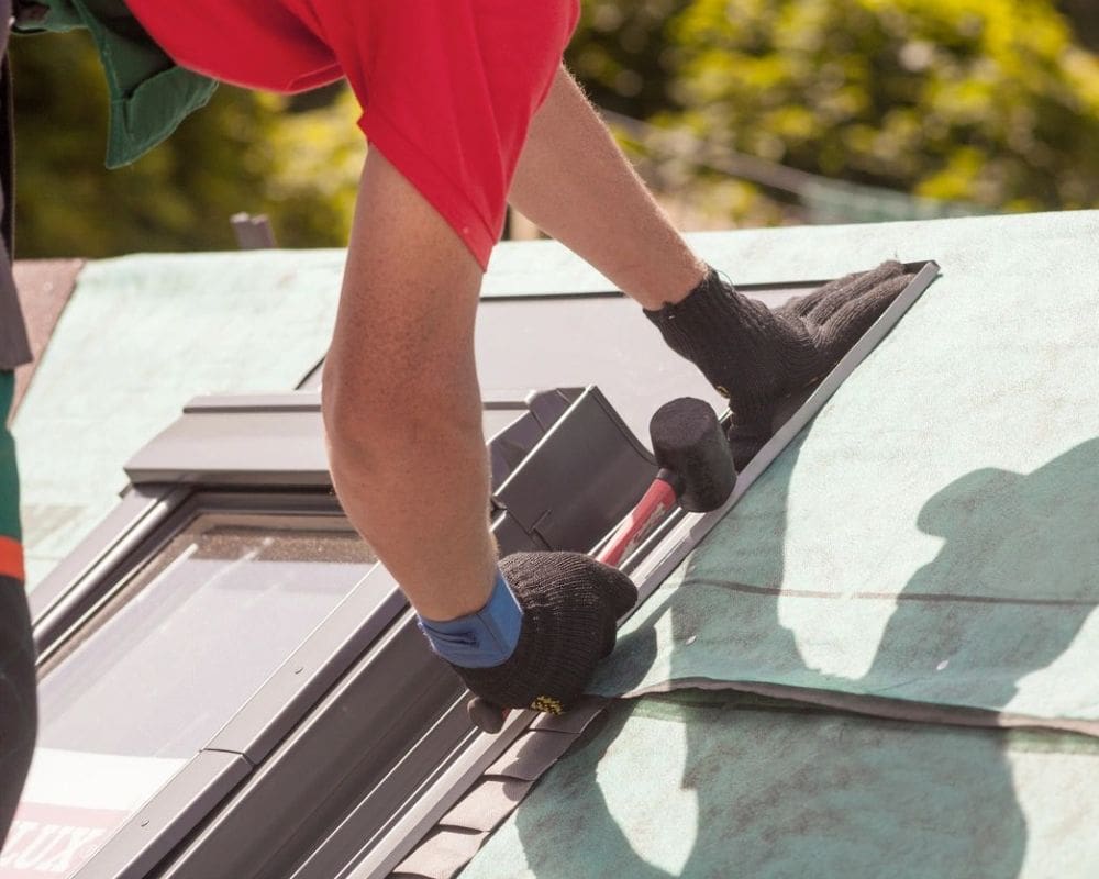
<path id="1" fill-rule="evenodd" d="M 197 518 L 46 674 L 38 744 L 191 757 L 374 561 L 335 518 Z"/>

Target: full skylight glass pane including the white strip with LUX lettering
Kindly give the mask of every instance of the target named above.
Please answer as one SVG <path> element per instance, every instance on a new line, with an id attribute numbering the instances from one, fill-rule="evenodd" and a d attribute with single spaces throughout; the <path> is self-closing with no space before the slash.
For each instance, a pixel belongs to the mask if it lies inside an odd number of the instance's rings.
<path id="1" fill-rule="evenodd" d="M 0 877 L 71 875 L 375 561 L 336 515 L 192 519 L 47 663 Z"/>

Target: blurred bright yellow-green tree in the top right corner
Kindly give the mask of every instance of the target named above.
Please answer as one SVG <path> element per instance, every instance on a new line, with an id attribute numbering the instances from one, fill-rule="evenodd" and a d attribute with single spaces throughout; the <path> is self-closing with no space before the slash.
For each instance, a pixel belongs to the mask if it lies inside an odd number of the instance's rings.
<path id="1" fill-rule="evenodd" d="M 825 177 L 997 210 L 1099 204 L 1099 60 L 1050 0 L 695 0 L 665 114 Z"/>

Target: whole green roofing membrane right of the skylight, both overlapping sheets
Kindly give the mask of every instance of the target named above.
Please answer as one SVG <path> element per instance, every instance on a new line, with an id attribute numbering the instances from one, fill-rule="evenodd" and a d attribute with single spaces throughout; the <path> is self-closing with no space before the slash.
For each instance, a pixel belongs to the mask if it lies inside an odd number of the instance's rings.
<path id="1" fill-rule="evenodd" d="M 1099 875 L 1099 213 L 696 243 L 744 282 L 942 275 L 626 623 L 593 689 L 635 698 L 463 876 Z"/>

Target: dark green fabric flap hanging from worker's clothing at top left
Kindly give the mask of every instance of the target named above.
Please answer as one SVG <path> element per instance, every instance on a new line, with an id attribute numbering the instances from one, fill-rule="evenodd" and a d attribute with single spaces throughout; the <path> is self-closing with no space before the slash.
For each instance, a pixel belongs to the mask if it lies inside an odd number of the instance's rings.
<path id="1" fill-rule="evenodd" d="M 110 91 L 107 167 L 134 162 L 203 107 L 217 84 L 178 67 L 153 42 L 122 0 L 36 0 L 48 14 L 16 32 L 87 27 Z"/>

